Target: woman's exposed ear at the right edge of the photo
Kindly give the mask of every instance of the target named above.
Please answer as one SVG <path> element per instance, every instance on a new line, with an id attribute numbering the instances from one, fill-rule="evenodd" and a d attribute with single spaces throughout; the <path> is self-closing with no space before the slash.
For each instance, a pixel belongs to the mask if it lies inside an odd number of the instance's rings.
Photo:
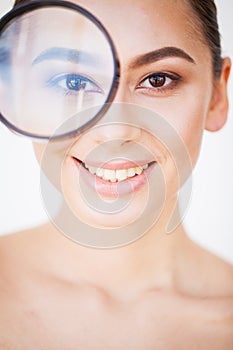
<path id="1" fill-rule="evenodd" d="M 206 118 L 205 129 L 208 131 L 220 130 L 227 121 L 228 95 L 227 82 L 231 71 L 230 58 L 222 61 L 220 78 L 215 82 L 209 111 Z"/>

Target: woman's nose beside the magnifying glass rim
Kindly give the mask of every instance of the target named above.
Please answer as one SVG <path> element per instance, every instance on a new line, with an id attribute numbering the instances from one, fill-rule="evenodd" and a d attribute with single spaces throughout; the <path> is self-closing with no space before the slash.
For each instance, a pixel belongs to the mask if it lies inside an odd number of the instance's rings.
<path id="1" fill-rule="evenodd" d="M 141 129 L 130 123 L 133 120 L 132 94 L 124 81 L 119 82 L 115 98 L 104 117 L 97 123 L 92 132 L 92 139 L 96 143 L 109 140 L 120 140 L 122 143 L 138 141 Z"/>

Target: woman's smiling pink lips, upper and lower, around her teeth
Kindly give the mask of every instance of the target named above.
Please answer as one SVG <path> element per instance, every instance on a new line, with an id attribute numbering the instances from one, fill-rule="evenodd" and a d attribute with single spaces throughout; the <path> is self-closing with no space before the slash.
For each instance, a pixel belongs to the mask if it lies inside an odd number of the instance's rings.
<path id="1" fill-rule="evenodd" d="M 85 183 L 91 187 L 95 192 L 97 192 L 100 196 L 107 198 L 116 198 L 119 196 L 125 196 L 132 194 L 134 192 L 139 191 L 146 183 L 148 183 L 148 177 L 151 171 L 156 166 L 157 162 L 153 161 L 127 161 L 127 162 L 106 162 L 103 164 L 97 164 L 95 162 L 89 163 L 88 165 L 93 167 L 100 167 L 103 169 L 109 170 L 118 170 L 118 169 L 128 169 L 135 166 L 142 166 L 147 163 L 150 163 L 150 166 L 142 172 L 140 175 L 136 175 L 134 177 L 128 178 L 121 182 L 110 182 L 99 178 L 96 175 L 92 175 L 83 165 L 82 162 L 72 157 L 75 165 L 78 168 L 82 179 Z"/>

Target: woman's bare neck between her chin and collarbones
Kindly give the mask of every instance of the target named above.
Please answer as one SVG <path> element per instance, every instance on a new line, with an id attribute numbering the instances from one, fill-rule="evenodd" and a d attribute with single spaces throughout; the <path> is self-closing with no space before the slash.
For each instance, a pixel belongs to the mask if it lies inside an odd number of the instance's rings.
<path id="1" fill-rule="evenodd" d="M 83 247 L 49 224 L 44 229 L 47 242 L 42 248 L 48 247 L 44 254 L 46 269 L 50 266 L 53 274 L 74 284 L 87 283 L 114 292 L 127 288 L 136 291 L 136 285 L 141 289 L 172 288 L 188 239 L 181 225 L 166 233 L 171 207 L 143 237 L 115 249 Z M 178 212 L 175 221 L 179 222 Z"/>

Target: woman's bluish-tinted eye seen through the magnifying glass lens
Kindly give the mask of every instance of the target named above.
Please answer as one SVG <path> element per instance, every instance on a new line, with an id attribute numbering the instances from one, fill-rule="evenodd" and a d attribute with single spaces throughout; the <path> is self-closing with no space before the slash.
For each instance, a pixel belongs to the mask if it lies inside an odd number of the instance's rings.
<path id="1" fill-rule="evenodd" d="M 98 92 L 103 93 L 102 89 L 91 79 L 80 74 L 63 74 L 50 79 L 47 83 L 49 87 L 61 89 L 64 93 L 69 92 Z"/>

